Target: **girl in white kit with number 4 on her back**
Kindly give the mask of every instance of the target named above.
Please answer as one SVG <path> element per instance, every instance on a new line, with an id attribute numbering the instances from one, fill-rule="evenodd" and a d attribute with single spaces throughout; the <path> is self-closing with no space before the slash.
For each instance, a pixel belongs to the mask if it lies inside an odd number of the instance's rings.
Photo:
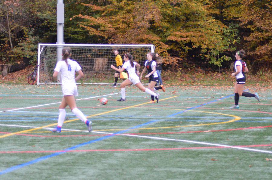
<path id="1" fill-rule="evenodd" d="M 52 132 L 61 132 L 61 127 L 63 125 L 66 111 L 65 107 L 68 105 L 72 112 L 82 120 L 88 128 L 89 132 L 92 132 L 92 122 L 89 121 L 84 114 L 77 109 L 76 107 L 76 99 L 75 96 L 77 93 L 76 81 L 83 77 L 83 72 L 81 71 L 81 67 L 76 61 L 69 59 L 71 55 L 70 48 L 63 48 L 62 50 L 62 61 L 57 62 L 56 68 L 54 69 L 53 77 L 57 77 L 58 73 L 61 75 L 61 87 L 63 92 L 63 98 L 59 106 L 59 119 L 58 126 L 54 129 L 51 129 Z M 75 78 L 75 72 L 79 73 L 79 75 Z"/>

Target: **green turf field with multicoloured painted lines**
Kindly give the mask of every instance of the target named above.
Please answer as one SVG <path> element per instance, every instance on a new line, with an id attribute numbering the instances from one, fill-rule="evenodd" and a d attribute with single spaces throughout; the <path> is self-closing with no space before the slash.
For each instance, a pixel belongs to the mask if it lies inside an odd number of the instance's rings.
<path id="1" fill-rule="evenodd" d="M 229 109 L 233 88 L 171 86 L 157 104 L 135 86 L 118 102 L 119 88 L 79 85 L 93 132 L 66 108 L 60 134 L 59 85 L 0 89 L 0 179 L 272 178 L 271 89 Z"/>

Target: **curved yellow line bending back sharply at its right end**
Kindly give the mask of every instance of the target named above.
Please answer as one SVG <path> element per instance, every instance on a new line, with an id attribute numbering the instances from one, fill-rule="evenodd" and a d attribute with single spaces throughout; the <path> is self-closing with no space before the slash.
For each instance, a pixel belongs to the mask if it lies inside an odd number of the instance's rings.
<path id="1" fill-rule="evenodd" d="M 235 117 L 235 119 L 226 121 L 226 122 L 220 122 L 220 123 L 207 123 L 207 124 L 196 124 L 196 125 L 186 125 L 186 126 L 167 126 L 167 127 L 153 127 L 153 128 L 137 128 L 137 129 L 131 129 L 131 130 L 139 130 L 139 129 L 167 129 L 167 128 L 180 128 L 180 127 L 192 127 L 192 126 L 207 126 L 207 125 L 214 125 L 214 124 L 225 124 L 225 123 L 232 123 L 234 121 L 238 121 L 241 119 L 239 116 L 231 115 L 231 114 L 224 114 L 224 113 L 216 113 L 216 112 L 208 112 L 208 111 L 197 111 L 197 110 L 186 110 L 186 109 L 172 109 L 172 108 L 153 108 L 153 107 L 140 107 L 140 108 L 147 108 L 147 109 L 164 109 L 164 110 L 185 110 L 185 111 L 194 111 L 194 112 L 202 112 L 202 113 L 212 113 L 212 114 L 220 114 L 224 116 L 232 116 Z M 96 131 L 121 131 L 125 129 L 99 129 Z"/>

